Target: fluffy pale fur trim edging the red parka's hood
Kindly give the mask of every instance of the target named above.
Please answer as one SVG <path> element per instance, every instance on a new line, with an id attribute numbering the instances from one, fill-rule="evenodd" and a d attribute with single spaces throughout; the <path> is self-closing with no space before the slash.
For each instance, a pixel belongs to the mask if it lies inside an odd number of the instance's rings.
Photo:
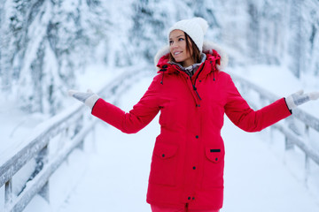
<path id="1" fill-rule="evenodd" d="M 226 54 L 226 52 L 219 45 L 217 45 L 214 42 L 204 42 L 204 44 L 203 44 L 203 52 L 204 53 L 212 54 L 213 49 L 215 51 L 217 51 L 217 53 L 221 56 L 221 63 L 216 64 L 216 67 L 218 68 L 218 70 L 224 71 L 227 64 L 228 64 L 228 61 L 229 61 L 229 58 L 228 58 L 228 55 Z M 159 67 L 158 67 L 159 59 L 161 57 L 167 56 L 167 54 L 169 54 L 169 46 L 168 45 L 163 47 L 162 49 L 159 49 L 159 51 L 155 55 L 154 64 L 157 67 L 157 71 L 159 71 Z"/>

